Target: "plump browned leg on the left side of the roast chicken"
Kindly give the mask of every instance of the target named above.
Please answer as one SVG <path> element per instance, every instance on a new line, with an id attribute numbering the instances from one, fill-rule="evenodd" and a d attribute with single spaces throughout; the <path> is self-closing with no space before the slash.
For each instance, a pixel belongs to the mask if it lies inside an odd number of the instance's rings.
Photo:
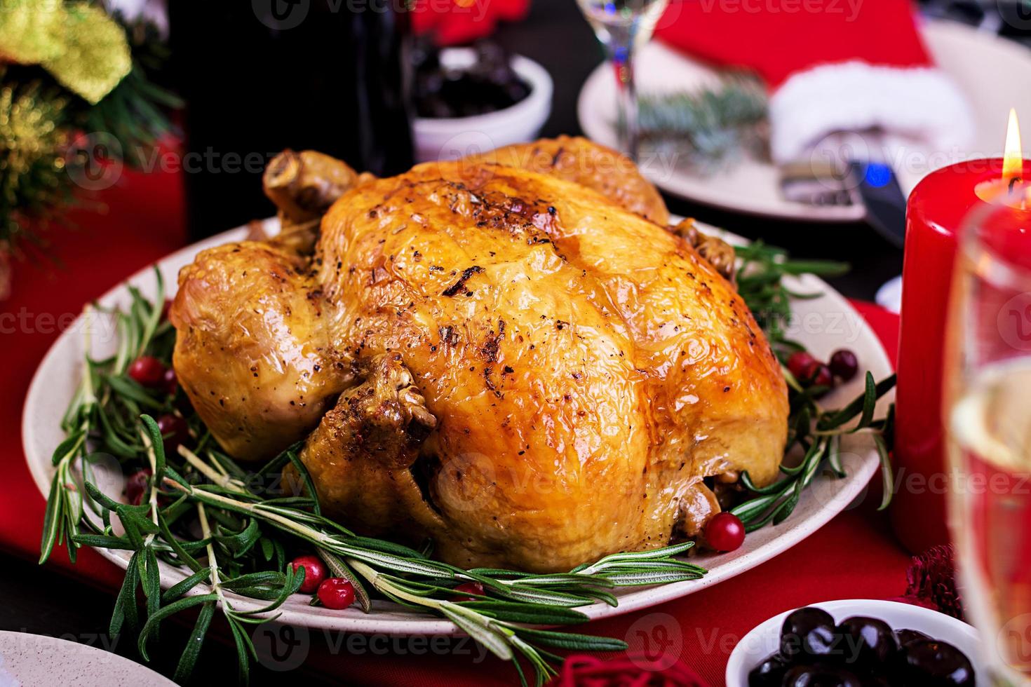
<path id="1" fill-rule="evenodd" d="M 329 345 L 310 262 L 275 241 L 201 252 L 169 309 L 176 377 L 230 454 L 256 460 L 303 439 L 354 382 Z"/>

